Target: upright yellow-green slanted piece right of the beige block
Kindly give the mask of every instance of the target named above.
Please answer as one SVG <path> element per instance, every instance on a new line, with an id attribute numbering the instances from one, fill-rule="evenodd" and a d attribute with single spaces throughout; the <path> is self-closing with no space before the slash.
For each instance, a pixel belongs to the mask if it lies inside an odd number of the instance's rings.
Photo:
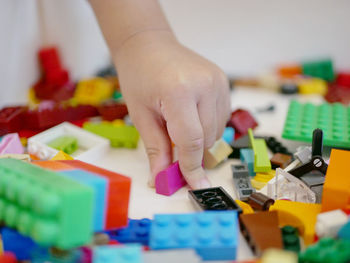
<path id="1" fill-rule="evenodd" d="M 271 162 L 264 139 L 254 139 L 252 129 L 248 129 L 250 144 L 254 151 L 254 172 L 265 173 L 271 170 Z"/>

